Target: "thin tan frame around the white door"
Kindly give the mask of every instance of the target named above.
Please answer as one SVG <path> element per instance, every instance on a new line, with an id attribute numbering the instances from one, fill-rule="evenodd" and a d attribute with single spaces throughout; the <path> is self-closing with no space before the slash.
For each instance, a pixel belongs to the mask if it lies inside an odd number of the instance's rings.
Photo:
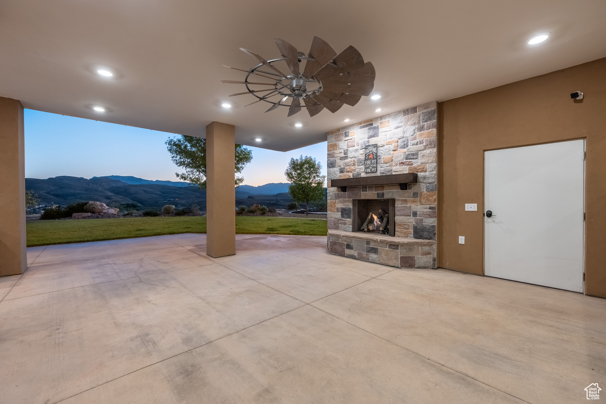
<path id="1" fill-rule="evenodd" d="M 485 201 L 486 201 L 486 152 L 487 151 L 493 151 L 493 150 L 505 150 L 508 148 L 518 148 L 518 147 L 527 147 L 527 146 L 537 146 L 537 145 L 546 145 L 546 144 L 551 144 L 551 143 L 562 143 L 562 142 L 570 142 L 570 141 L 584 141 L 583 142 L 583 150 L 584 150 L 584 158 L 583 158 L 583 291 L 582 294 L 586 295 L 585 293 L 585 261 L 586 261 L 586 254 L 587 251 L 585 251 L 585 239 L 587 238 L 585 233 L 587 232 L 587 229 L 585 227 L 585 219 L 586 219 L 586 215 L 585 215 L 585 211 L 586 211 L 586 204 L 587 204 L 587 198 L 585 197 L 585 177 L 587 176 L 587 136 L 582 136 L 582 137 L 572 137 L 571 139 L 564 139 L 564 140 L 560 140 L 560 141 L 551 141 L 551 142 L 539 142 L 539 143 L 528 143 L 528 144 L 524 144 L 524 145 L 516 145 L 516 146 L 508 146 L 508 147 L 496 147 L 496 148 L 487 148 L 482 150 L 482 276 L 486 276 L 486 277 L 492 277 L 492 276 L 488 276 L 486 274 L 486 220 L 485 219 L 485 212 L 486 212 L 486 207 L 485 207 Z M 559 288 L 551 288 L 551 286 L 544 286 L 544 285 L 536 285 L 536 283 L 528 283 L 528 282 L 522 282 L 520 280 L 511 280 L 511 279 L 504 279 L 504 278 L 494 278 L 494 279 L 503 279 L 503 280 L 508 280 L 510 282 L 519 282 L 519 283 L 526 283 L 527 285 L 534 285 L 534 286 L 541 286 L 543 288 L 550 288 L 550 289 L 555 289 L 555 290 L 563 290 L 563 291 L 567 291 L 567 292 L 571 292 L 571 293 L 578 293 L 578 292 L 573 292 L 570 290 L 565 290 L 565 289 L 559 289 Z"/>

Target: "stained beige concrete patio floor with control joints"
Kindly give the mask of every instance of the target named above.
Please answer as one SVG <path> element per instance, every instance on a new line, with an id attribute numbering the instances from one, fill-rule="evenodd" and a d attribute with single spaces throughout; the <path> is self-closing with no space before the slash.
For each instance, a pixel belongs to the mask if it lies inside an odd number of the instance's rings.
<path id="1" fill-rule="evenodd" d="M 28 248 L 28 270 L 0 278 L 0 402 L 551 404 L 605 389 L 604 299 L 332 256 L 320 236 L 236 247 Z"/>

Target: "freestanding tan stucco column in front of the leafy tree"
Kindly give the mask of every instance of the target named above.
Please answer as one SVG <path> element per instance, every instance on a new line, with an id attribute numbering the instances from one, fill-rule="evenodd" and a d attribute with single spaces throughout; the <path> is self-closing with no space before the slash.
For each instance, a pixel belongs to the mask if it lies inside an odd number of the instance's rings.
<path id="1" fill-rule="evenodd" d="M 211 122 L 206 126 L 206 253 L 236 253 L 236 127 Z"/>

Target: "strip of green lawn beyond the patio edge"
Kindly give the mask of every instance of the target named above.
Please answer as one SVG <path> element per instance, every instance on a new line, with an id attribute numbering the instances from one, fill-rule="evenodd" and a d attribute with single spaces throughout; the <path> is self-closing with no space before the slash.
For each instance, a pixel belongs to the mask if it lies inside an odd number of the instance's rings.
<path id="1" fill-rule="evenodd" d="M 326 224 L 322 219 L 236 216 L 236 233 L 326 236 Z M 39 220 L 27 223 L 27 247 L 179 233 L 206 233 L 206 217 Z"/>

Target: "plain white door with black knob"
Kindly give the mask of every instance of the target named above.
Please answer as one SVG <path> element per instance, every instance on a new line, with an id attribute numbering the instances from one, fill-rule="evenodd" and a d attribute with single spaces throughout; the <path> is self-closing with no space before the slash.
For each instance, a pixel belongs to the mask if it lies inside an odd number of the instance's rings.
<path id="1" fill-rule="evenodd" d="M 485 275 L 583 291 L 584 154 L 584 140 L 484 152 Z"/>

